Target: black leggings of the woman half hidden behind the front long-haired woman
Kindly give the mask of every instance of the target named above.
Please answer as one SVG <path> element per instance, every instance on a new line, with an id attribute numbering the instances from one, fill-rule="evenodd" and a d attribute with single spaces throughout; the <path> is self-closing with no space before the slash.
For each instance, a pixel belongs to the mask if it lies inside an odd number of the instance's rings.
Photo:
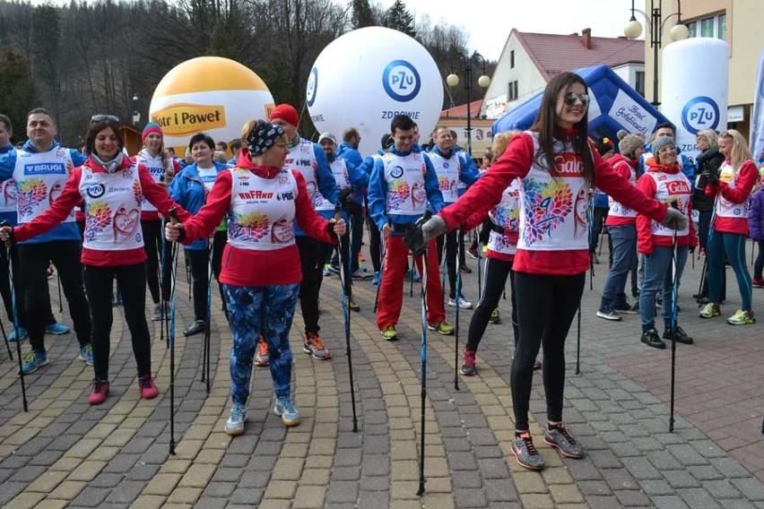
<path id="1" fill-rule="evenodd" d="M 491 319 L 491 312 L 499 306 L 499 298 L 504 292 L 509 276 L 509 287 L 512 299 L 512 332 L 514 332 L 515 348 L 517 349 L 517 306 L 515 306 L 515 272 L 512 272 L 512 262 L 496 258 L 485 259 L 485 274 L 482 279 L 482 297 L 470 321 L 470 331 L 467 333 L 467 349 L 476 350 L 485 328 Z"/>

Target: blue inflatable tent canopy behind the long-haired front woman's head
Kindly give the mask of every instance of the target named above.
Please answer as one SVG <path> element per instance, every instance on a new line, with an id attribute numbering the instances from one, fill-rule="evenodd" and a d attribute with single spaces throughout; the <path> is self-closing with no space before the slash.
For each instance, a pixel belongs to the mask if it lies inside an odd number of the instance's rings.
<path id="1" fill-rule="evenodd" d="M 655 125 L 667 120 L 607 65 L 583 67 L 573 72 L 584 79 L 589 89 L 589 135 L 592 138 L 607 136 L 617 140 L 616 134 L 621 129 L 645 134 L 647 138 L 655 131 Z M 542 96 L 543 90 L 499 117 L 491 126 L 492 133 L 525 130 L 533 125 Z"/>

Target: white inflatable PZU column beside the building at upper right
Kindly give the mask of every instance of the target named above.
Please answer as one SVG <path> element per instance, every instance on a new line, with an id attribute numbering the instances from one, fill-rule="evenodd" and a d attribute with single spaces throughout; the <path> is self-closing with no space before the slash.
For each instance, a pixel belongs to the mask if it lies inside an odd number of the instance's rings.
<path id="1" fill-rule="evenodd" d="M 661 113 L 676 125 L 676 143 L 682 153 L 700 153 L 695 134 L 703 129 L 727 128 L 729 51 L 724 40 L 692 38 L 664 49 Z M 712 70 L 702 73 L 699 69 Z"/>

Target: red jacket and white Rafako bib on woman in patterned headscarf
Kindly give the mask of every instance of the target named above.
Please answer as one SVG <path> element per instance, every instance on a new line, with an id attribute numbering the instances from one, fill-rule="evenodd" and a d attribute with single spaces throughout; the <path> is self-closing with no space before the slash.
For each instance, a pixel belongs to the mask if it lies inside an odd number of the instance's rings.
<path id="1" fill-rule="evenodd" d="M 287 235 L 295 221 L 308 236 L 329 244 L 337 242 L 329 232 L 329 222 L 313 208 L 300 170 L 257 167 L 246 151 L 239 152 L 236 168 L 221 171 L 207 203 L 193 218 L 183 221 L 183 243 L 211 235 L 226 214 L 229 242 L 222 255 L 223 284 L 256 287 L 299 283 L 300 253 L 293 233 Z M 237 225 L 242 227 L 241 235 Z"/>

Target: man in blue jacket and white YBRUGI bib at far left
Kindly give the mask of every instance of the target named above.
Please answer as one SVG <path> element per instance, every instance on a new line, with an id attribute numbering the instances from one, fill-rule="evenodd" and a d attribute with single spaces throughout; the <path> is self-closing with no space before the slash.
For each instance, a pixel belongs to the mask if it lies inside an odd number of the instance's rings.
<path id="1" fill-rule="evenodd" d="M 61 191 L 74 167 L 85 157 L 56 142 L 56 122 L 48 110 L 35 108 L 27 117 L 27 136 L 22 149 L 0 156 L 0 181 L 13 178 L 16 186 L 16 211 L 20 223 L 29 222 L 47 211 Z M 19 243 L 17 277 L 24 281 L 24 315 L 31 351 L 24 356 L 22 371 L 32 373 L 48 364 L 45 349 L 45 324 L 48 318 L 48 278 L 52 261 L 61 278 L 69 303 L 69 314 L 80 343 L 79 358 L 92 365 L 91 312 L 82 285 L 82 237 L 74 222 L 74 211 L 48 233 Z"/>

